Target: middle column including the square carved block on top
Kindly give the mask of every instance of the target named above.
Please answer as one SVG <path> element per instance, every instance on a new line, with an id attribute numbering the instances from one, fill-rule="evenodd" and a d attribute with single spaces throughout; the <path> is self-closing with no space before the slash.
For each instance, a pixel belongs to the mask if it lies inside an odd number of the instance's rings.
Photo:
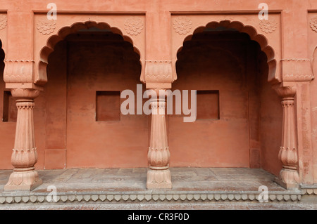
<path id="1" fill-rule="evenodd" d="M 147 172 L 147 189 L 170 189 L 170 152 L 166 131 L 166 93 L 160 90 L 170 89 L 173 82 L 173 69 L 170 60 L 147 60 L 145 64 L 145 81 L 147 89 L 158 96 L 151 100 L 151 137 L 147 154 L 149 169 Z"/>

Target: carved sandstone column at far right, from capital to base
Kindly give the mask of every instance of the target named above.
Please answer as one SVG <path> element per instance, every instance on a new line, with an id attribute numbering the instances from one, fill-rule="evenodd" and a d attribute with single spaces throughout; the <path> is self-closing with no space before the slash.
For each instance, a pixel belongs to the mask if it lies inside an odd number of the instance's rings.
<path id="1" fill-rule="evenodd" d="M 295 118 L 294 96 L 296 88 L 286 86 L 275 88 L 282 98 L 282 146 L 278 159 L 282 162 L 282 170 L 276 182 L 286 189 L 299 187 L 298 152 L 297 152 L 297 125 Z"/>

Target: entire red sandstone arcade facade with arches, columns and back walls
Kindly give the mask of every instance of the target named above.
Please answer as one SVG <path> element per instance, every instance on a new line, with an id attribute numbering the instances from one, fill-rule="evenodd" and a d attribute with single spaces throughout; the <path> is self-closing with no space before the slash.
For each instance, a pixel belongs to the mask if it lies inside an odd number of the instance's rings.
<path id="1" fill-rule="evenodd" d="M 0 169 L 261 168 L 317 184 L 317 1 L 0 0 Z M 197 90 L 197 120 L 120 113 L 120 92 Z M 15 107 L 16 100 L 16 107 Z M 165 98 L 151 102 L 164 110 Z M 13 149 L 13 150 L 12 150 Z M 144 183 L 145 186 L 145 183 Z"/>

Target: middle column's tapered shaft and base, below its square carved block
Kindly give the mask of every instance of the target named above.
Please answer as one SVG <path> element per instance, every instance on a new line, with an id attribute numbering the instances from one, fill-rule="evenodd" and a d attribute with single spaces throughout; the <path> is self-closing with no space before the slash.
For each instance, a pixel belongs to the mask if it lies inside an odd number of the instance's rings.
<path id="1" fill-rule="evenodd" d="M 157 99 L 151 100 L 151 138 L 147 154 L 147 189 L 170 189 L 170 151 L 166 133 L 166 95 L 156 90 Z"/>

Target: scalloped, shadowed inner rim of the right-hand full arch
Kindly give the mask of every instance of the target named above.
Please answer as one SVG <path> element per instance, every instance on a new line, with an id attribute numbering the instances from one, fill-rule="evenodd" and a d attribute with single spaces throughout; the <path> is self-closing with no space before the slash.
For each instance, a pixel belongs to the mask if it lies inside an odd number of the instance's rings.
<path id="1" fill-rule="evenodd" d="M 187 35 L 187 37 L 185 37 L 182 43 L 182 46 L 180 46 L 180 48 L 178 48 L 178 51 L 176 52 L 176 58 L 177 58 L 177 54 L 180 51 L 182 51 L 184 43 L 186 41 L 192 40 L 192 37 L 194 34 L 204 32 L 206 28 L 215 29 L 217 27 L 237 29 L 237 31 L 239 32 L 248 34 L 251 40 L 256 41 L 260 45 L 261 51 L 263 51 L 266 54 L 266 57 L 268 58 L 267 60 L 268 77 L 275 77 L 275 71 L 277 66 L 277 62 L 275 60 L 275 51 L 270 45 L 268 45 L 268 39 L 263 34 L 258 34 L 258 32 L 256 31 L 256 28 L 249 25 L 244 25 L 240 21 L 230 21 L 230 20 L 221 20 L 219 22 L 212 21 L 207 23 L 206 26 L 197 27 L 196 29 L 194 29 L 194 32 L 192 32 L 192 34 L 189 34 Z M 276 79 L 276 81 L 280 82 L 278 79 Z"/>

